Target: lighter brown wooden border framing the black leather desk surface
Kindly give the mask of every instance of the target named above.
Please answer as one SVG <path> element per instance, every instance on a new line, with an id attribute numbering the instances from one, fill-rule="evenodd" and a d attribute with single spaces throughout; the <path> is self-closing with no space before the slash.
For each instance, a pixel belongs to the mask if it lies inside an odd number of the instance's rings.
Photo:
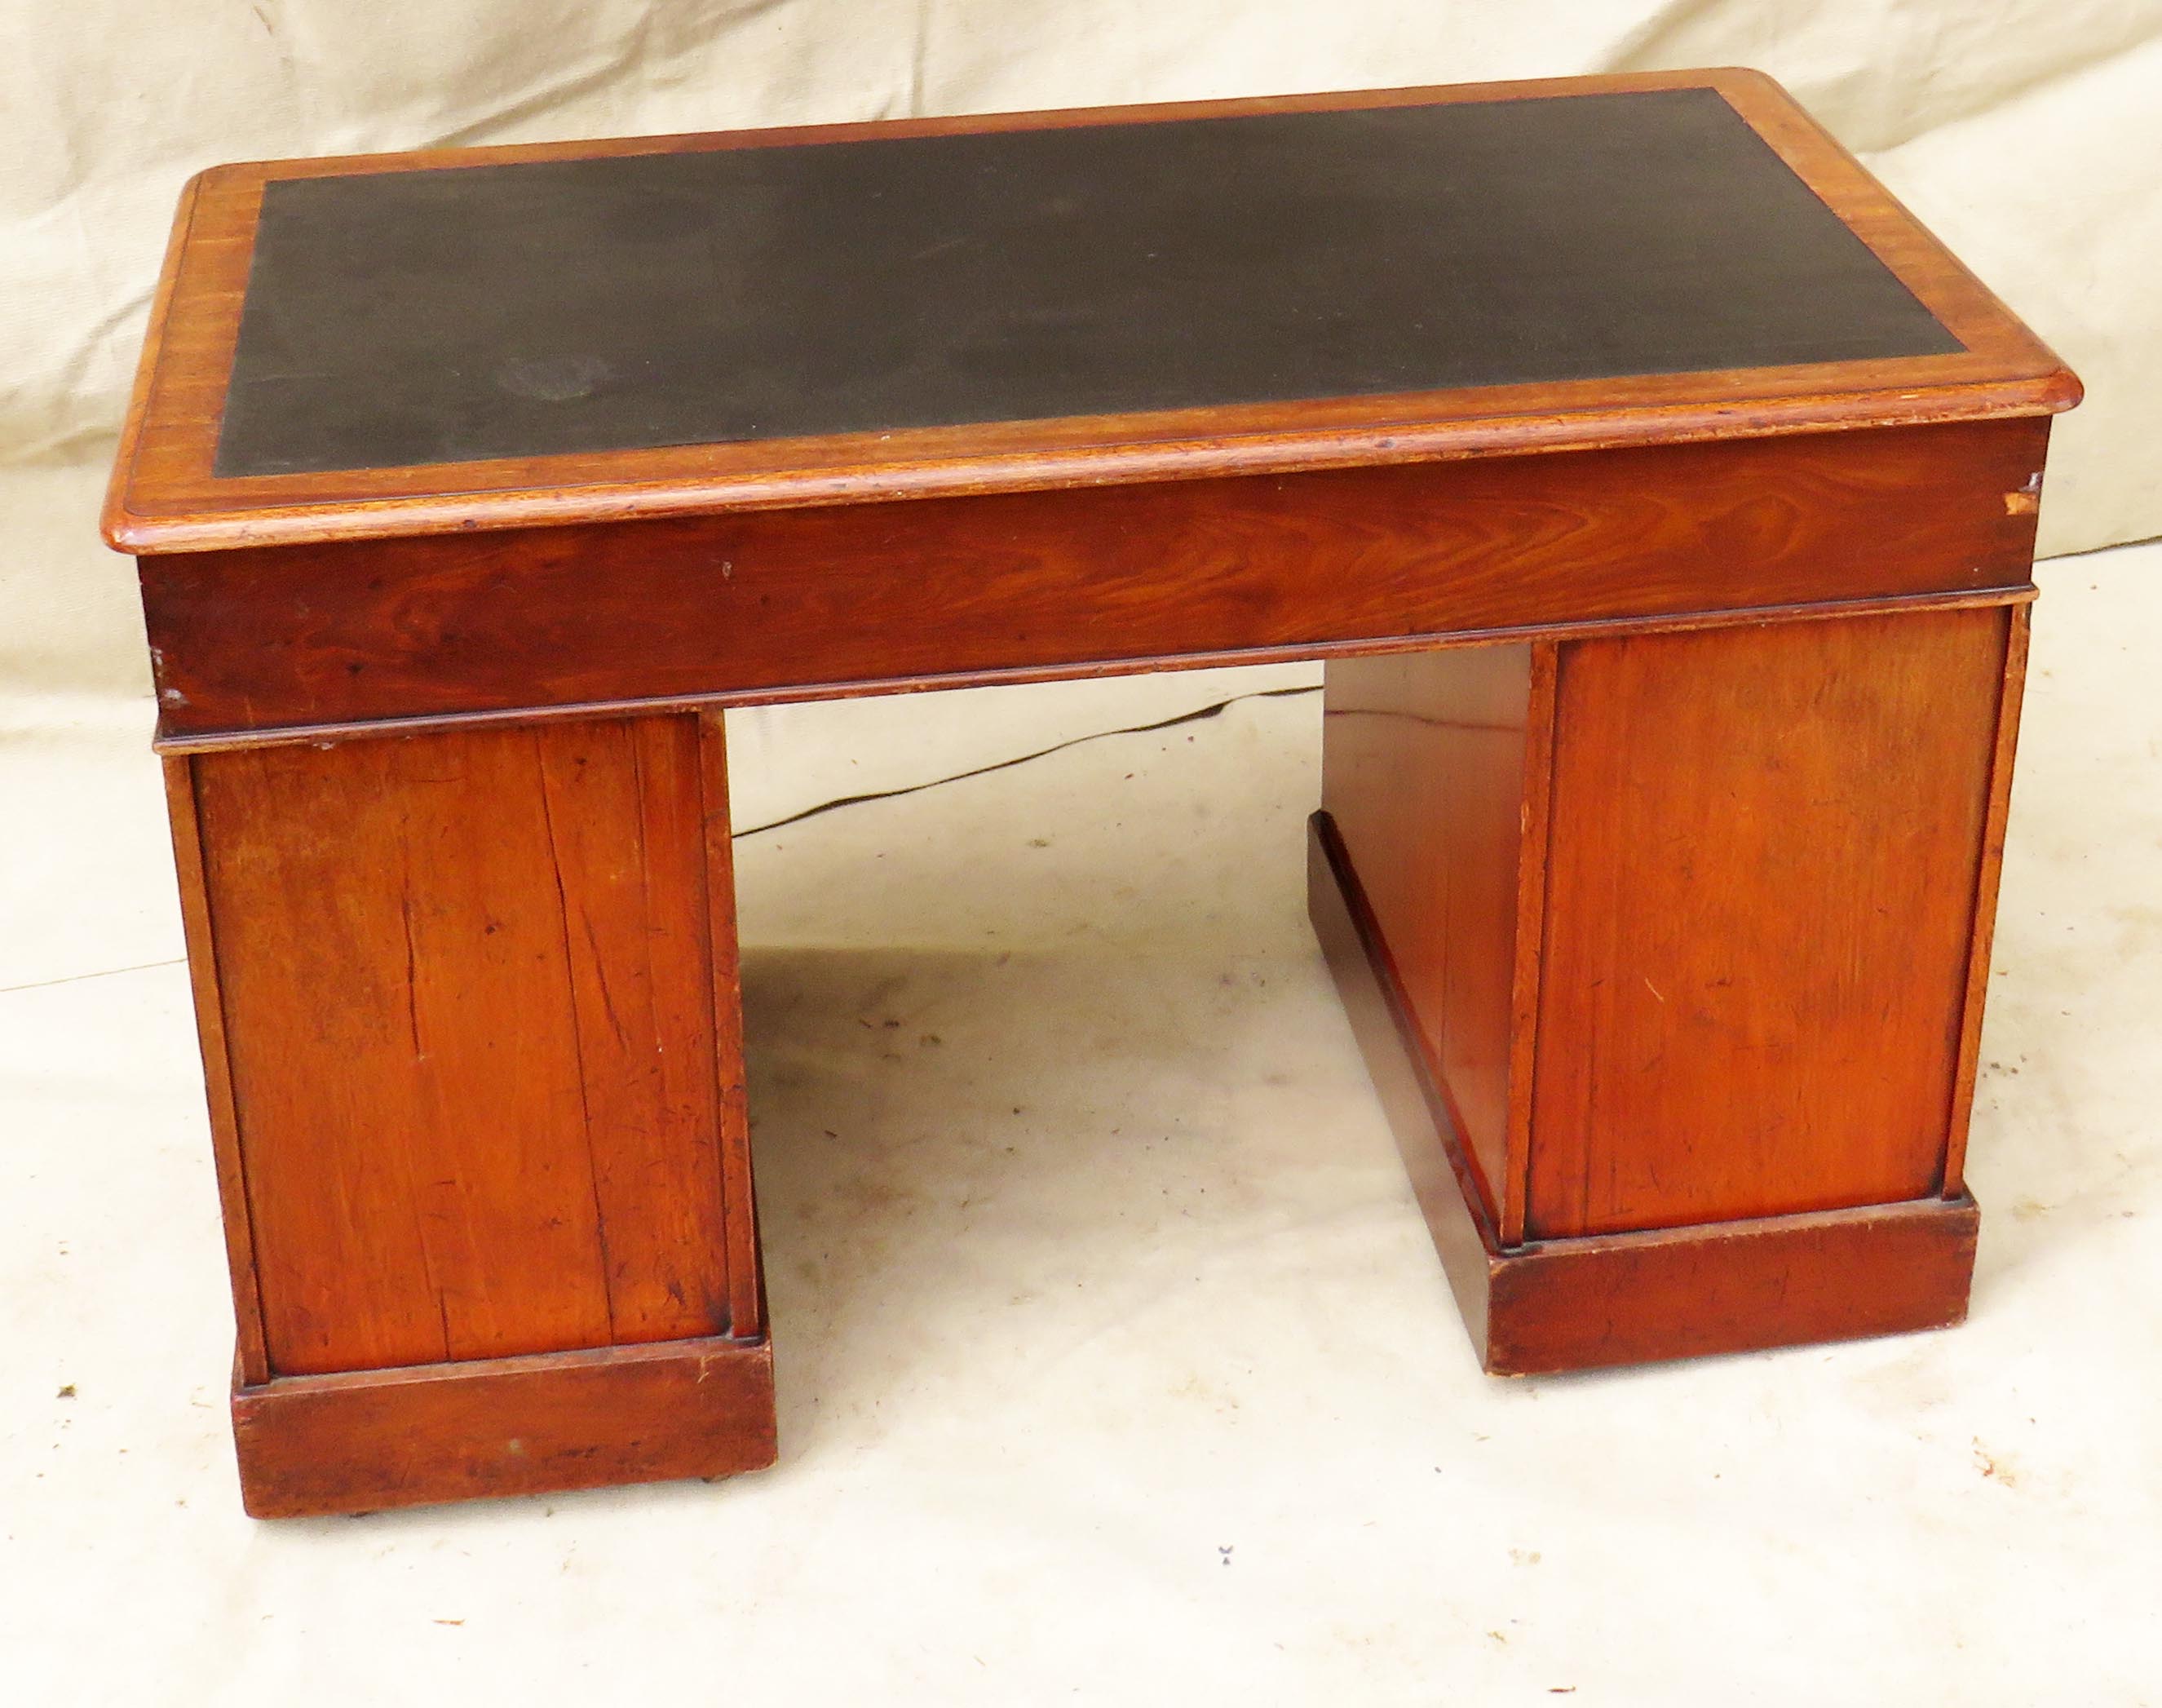
<path id="1" fill-rule="evenodd" d="M 1712 89 L 1730 102 L 1965 348 L 1937 357 L 919 426 L 404 469 L 229 480 L 214 473 L 255 221 L 264 186 L 272 179 L 1660 89 Z M 1777 84 L 1756 71 L 1654 71 L 259 162 L 199 175 L 182 201 L 179 227 L 104 519 L 106 538 L 138 553 L 1911 426 L 2047 413 L 2069 409 L 2080 396 L 2065 365 Z"/>

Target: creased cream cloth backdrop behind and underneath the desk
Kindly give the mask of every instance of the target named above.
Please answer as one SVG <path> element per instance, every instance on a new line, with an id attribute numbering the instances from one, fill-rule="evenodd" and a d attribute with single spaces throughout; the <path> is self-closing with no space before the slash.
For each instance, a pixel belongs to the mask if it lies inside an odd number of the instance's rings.
<path id="1" fill-rule="evenodd" d="M 595 1656 L 616 1695 L 731 1704 L 2151 1699 L 2162 547 L 2045 577 L 1965 1330 L 1479 1377 L 1297 915 L 1312 705 L 1258 700 L 744 843 L 763 1012 L 804 1023 L 757 1053 L 778 1470 L 264 1529 L 231 1485 L 132 566 L 95 510 L 173 197 L 214 160 L 1740 61 L 2086 376 L 2045 549 L 2156 534 L 2162 6 L 0 0 L 0 48 L 19 1699 L 586 1702 Z M 746 713 L 735 804 L 757 824 L 1286 679 Z M 984 971 L 986 925 L 1031 984 Z M 945 1042 L 889 1081 L 856 1016 L 906 979 Z M 1107 1126 L 1178 1142 L 1077 1148 Z M 1014 1172 L 971 1209 L 992 1131 Z"/>

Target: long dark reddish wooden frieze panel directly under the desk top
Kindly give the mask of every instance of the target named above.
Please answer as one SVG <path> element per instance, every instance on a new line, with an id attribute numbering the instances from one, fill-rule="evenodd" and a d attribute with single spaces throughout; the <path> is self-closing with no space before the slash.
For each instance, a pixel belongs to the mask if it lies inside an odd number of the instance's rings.
<path id="1" fill-rule="evenodd" d="M 145 558 L 166 739 L 2024 586 L 2045 422 Z"/>

